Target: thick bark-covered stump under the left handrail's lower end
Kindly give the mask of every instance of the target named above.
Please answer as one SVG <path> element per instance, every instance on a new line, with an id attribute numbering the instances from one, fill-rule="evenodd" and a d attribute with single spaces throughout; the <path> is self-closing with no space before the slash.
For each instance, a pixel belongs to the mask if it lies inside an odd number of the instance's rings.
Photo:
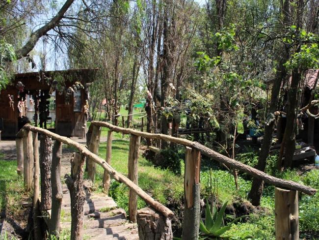
<path id="1" fill-rule="evenodd" d="M 172 240 L 172 223 L 151 208 L 138 210 L 137 227 L 139 240 Z"/>

